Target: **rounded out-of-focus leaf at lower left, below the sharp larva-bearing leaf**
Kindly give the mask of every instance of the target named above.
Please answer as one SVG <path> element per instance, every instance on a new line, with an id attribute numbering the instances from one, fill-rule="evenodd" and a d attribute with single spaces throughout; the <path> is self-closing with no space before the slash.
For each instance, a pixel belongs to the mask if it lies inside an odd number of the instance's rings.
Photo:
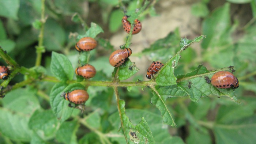
<path id="1" fill-rule="evenodd" d="M 29 120 L 29 128 L 35 132 L 42 131 L 41 137 L 52 137 L 57 130 L 58 120 L 52 110 L 37 110 Z"/>

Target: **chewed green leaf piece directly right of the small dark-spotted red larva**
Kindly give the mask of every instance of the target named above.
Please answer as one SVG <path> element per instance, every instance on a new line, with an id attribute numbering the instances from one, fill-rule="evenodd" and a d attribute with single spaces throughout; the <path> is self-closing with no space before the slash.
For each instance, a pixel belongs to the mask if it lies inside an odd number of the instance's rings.
<path id="1" fill-rule="evenodd" d="M 180 52 L 175 54 L 159 71 L 158 75 L 155 76 L 155 82 L 159 86 L 172 86 L 177 84 L 177 78 L 174 76 L 174 69 L 178 65 L 180 60 Z"/>

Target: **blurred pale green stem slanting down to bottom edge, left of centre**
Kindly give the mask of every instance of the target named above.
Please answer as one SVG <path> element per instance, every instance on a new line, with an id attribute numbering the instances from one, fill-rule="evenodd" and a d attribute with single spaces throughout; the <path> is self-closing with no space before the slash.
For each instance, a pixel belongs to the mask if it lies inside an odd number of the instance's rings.
<path id="1" fill-rule="evenodd" d="M 78 118 L 78 121 L 82 124 L 82 125 L 84 125 L 84 126 L 86 126 L 87 128 L 89 128 L 92 132 L 94 132 L 94 133 L 96 133 L 98 136 L 99 136 L 99 139 L 101 140 L 101 143 L 102 144 L 112 144 L 110 141 L 109 141 L 109 139 L 105 136 L 105 134 L 104 133 L 102 133 L 102 132 L 100 132 L 99 130 L 97 130 L 97 129 L 95 129 L 95 128 L 93 128 L 93 127 L 91 127 L 89 124 L 87 124 L 87 122 L 86 122 L 86 120 L 83 118 L 80 118 L 80 117 L 77 117 Z M 105 143 L 106 142 L 106 143 Z"/>

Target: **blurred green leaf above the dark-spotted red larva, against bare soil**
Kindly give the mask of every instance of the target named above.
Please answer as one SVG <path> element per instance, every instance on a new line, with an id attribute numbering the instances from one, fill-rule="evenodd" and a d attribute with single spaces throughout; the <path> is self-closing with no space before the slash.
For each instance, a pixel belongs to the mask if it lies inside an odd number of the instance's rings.
<path id="1" fill-rule="evenodd" d="M 180 33 L 176 29 L 170 32 L 165 38 L 158 39 L 149 48 L 142 51 L 143 55 L 147 55 L 153 61 L 166 60 L 173 56 L 179 49 Z"/>

